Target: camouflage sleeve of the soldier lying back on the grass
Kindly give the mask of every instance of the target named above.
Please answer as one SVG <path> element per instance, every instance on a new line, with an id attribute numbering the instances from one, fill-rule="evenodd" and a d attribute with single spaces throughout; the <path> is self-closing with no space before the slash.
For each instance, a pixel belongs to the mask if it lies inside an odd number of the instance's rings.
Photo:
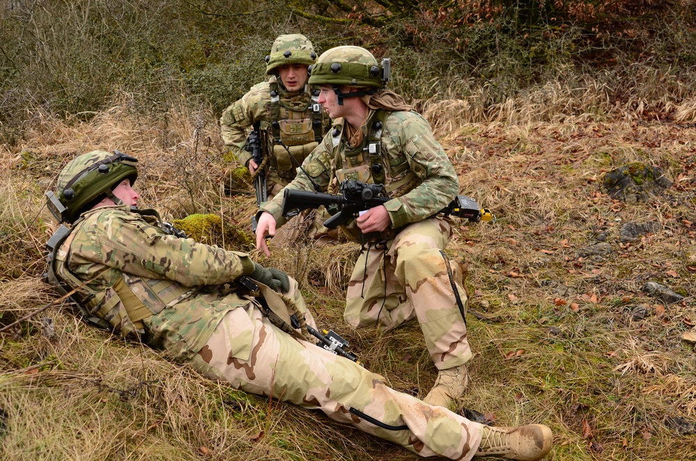
<path id="1" fill-rule="evenodd" d="M 168 235 L 138 214 L 111 209 L 94 218 L 93 225 L 83 227 L 90 243 L 77 251 L 93 263 L 184 286 L 219 285 L 254 270 L 245 253 Z"/>

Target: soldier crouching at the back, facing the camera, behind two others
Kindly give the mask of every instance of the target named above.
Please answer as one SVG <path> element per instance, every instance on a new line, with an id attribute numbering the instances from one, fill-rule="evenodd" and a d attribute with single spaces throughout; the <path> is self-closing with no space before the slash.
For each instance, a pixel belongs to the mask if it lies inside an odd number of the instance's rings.
<path id="1" fill-rule="evenodd" d="M 307 70 L 316 57 L 307 37 L 299 33 L 279 36 L 265 57 L 268 81 L 254 85 L 242 99 L 225 109 L 220 118 L 226 146 L 252 176 L 265 175 L 268 186 L 264 192 L 268 200 L 295 178 L 297 167 L 327 132 L 330 120 L 317 102 L 319 90 L 307 84 Z M 247 131 L 252 128 L 258 129 L 261 137 L 264 157 L 261 165 L 245 149 Z M 261 171 L 257 172 L 259 168 Z M 257 201 L 260 205 L 258 196 Z M 301 221 L 307 219 L 304 214 Z M 320 223 L 304 222 L 304 226 L 310 228 L 315 238 L 327 232 Z M 296 236 L 287 235 L 285 240 Z"/>

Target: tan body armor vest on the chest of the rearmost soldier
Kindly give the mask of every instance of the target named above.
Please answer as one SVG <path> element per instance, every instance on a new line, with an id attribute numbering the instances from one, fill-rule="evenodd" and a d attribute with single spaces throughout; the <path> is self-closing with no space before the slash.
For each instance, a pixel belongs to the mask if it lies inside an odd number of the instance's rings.
<path id="1" fill-rule="evenodd" d="M 286 181 L 295 178 L 295 169 L 323 138 L 324 117 L 318 95 L 319 91 L 314 90 L 307 102 L 282 101 L 278 82 L 270 84 L 271 123 L 266 141 L 273 153 L 272 164 Z"/>

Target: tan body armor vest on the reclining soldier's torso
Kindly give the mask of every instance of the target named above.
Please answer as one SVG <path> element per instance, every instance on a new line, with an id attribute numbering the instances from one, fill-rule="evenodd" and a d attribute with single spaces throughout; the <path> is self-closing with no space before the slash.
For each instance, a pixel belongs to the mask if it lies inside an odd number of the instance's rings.
<path id="1" fill-rule="evenodd" d="M 70 297 L 87 322 L 116 330 L 123 336 L 141 338 L 146 333 L 143 320 L 173 306 L 196 290 L 176 281 L 148 279 L 126 272 L 121 272 L 116 283 L 109 288 L 92 288 L 90 281 L 82 281 L 69 267 L 70 247 L 83 225 L 84 218 L 76 221 L 70 230 L 61 225 L 54 235 L 59 237 L 49 240 L 47 279 L 61 295 L 76 290 Z M 109 269 L 105 267 L 104 272 Z M 99 280 L 100 275 L 97 274 L 95 279 Z"/>

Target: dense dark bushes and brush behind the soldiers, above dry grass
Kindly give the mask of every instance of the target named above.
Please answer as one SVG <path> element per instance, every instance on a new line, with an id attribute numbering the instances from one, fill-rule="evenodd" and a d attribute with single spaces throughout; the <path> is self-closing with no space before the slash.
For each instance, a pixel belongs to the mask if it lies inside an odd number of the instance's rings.
<path id="1" fill-rule="evenodd" d="M 407 100 L 476 95 L 491 107 L 548 82 L 598 82 L 644 107 L 696 93 L 696 17 L 670 0 L 47 0 L 0 6 L 0 143 L 27 107 L 88 119 L 126 93 L 135 111 L 173 101 L 220 114 L 265 79 L 279 33 L 321 52 L 361 45 L 394 61 Z M 58 25 L 59 24 L 59 25 Z M 591 79 L 591 80 L 590 80 Z M 642 104 L 642 105 L 641 105 Z M 603 110 L 597 108 L 597 113 Z M 75 115 L 77 114 L 77 117 Z"/>

